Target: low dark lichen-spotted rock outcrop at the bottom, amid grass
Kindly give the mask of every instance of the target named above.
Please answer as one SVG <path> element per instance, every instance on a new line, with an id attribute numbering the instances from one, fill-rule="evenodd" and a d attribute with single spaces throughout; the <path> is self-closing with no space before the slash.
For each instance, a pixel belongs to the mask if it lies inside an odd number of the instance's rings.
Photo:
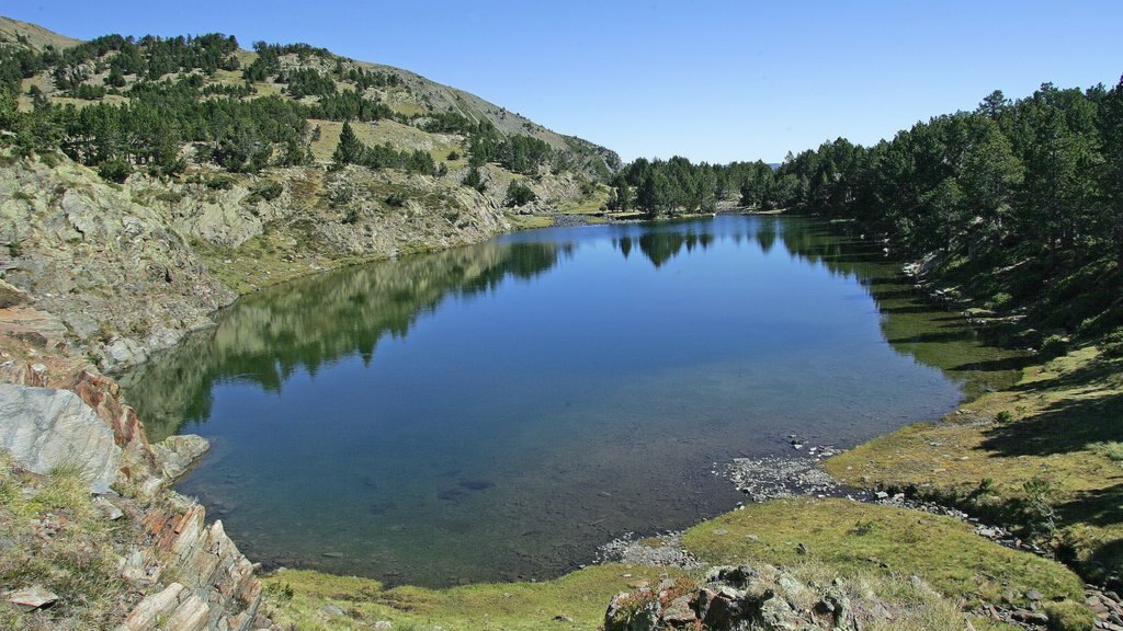
<path id="1" fill-rule="evenodd" d="M 814 589 L 767 569 L 772 576 L 765 579 L 748 566 L 716 567 L 702 585 L 665 579 L 617 594 L 604 614 L 604 630 L 858 631 L 850 598 L 838 582 Z"/>

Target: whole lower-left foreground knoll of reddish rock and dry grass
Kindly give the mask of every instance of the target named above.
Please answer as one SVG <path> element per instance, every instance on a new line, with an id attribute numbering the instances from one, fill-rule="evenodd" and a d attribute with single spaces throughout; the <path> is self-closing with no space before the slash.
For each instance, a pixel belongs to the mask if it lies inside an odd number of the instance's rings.
<path id="1" fill-rule="evenodd" d="M 255 566 L 221 521 L 207 524 L 202 506 L 171 490 L 204 440 L 150 445 L 112 379 L 11 336 L 0 336 L 0 435 L 10 449 L 0 573 L 12 605 L 0 611 L 0 625 L 271 625 Z M 80 487 L 63 495 L 58 479 L 74 469 Z"/>

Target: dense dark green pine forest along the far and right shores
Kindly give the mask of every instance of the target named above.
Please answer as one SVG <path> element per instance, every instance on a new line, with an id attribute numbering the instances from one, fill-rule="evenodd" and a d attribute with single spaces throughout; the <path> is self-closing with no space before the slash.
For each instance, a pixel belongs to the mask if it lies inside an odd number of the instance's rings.
<path id="1" fill-rule="evenodd" d="M 1046 83 L 1017 100 L 995 91 L 974 111 L 870 147 L 838 138 L 775 170 L 640 158 L 612 185 L 611 209 L 649 217 L 707 212 L 739 193 L 749 208 L 856 220 L 898 254 L 937 253 L 948 271 L 989 278 L 995 308 L 1069 329 L 1123 319 L 1123 80 Z"/>

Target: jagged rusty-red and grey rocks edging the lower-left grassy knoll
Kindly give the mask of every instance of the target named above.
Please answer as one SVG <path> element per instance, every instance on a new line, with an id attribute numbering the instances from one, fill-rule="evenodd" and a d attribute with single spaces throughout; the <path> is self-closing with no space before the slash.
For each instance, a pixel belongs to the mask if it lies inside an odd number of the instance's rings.
<path id="1" fill-rule="evenodd" d="M 118 627 L 125 631 L 239 631 L 268 628 L 261 615 L 255 566 L 227 537 L 221 521 L 171 490 L 207 449 L 177 436 L 153 446 L 112 379 L 90 366 L 34 348 L 35 363 L 16 360 L 15 338 L 0 337 L 0 438 L 13 460 L 40 474 L 77 466 L 106 519 L 125 520 L 120 573 L 139 602 Z M 24 385 L 34 384 L 34 385 Z M 44 387 L 51 386 L 51 387 Z M 113 491 L 110 491 L 110 485 Z M 107 493 L 108 492 L 108 493 Z M 122 522 L 124 523 L 124 522 Z M 34 610 L 29 610 L 34 611 Z"/>

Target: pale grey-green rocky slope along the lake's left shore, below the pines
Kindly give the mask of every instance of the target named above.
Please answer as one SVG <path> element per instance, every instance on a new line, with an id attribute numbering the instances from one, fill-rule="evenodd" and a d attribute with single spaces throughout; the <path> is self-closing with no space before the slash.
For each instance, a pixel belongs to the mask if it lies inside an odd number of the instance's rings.
<path id="1" fill-rule="evenodd" d="M 144 362 L 210 326 L 210 314 L 239 293 L 356 260 L 476 243 L 508 227 L 502 207 L 474 190 L 358 167 L 290 168 L 216 191 L 140 175 L 113 185 L 66 159 L 8 163 L 0 277 L 56 314 L 62 338 L 104 369 Z M 283 192 L 248 200 L 261 180 Z M 401 205 L 384 203 L 386 191 L 402 190 Z M 332 207 L 330 195 L 347 201 Z"/>

